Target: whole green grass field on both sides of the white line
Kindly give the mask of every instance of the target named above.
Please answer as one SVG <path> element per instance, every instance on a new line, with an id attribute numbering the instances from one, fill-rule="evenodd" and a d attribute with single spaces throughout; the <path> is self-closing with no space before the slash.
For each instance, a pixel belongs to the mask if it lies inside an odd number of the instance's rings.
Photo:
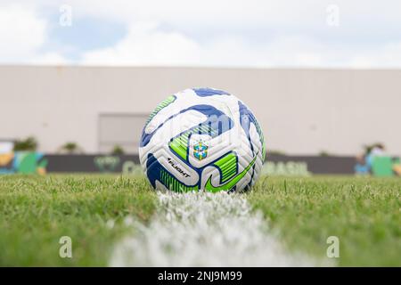
<path id="1" fill-rule="evenodd" d="M 289 252 L 328 259 L 337 236 L 334 265 L 401 266 L 400 194 L 397 178 L 317 176 L 262 177 L 242 196 Z M 0 265 L 109 265 L 127 216 L 149 224 L 157 202 L 142 176 L 0 176 Z M 59 256 L 61 236 L 72 258 Z"/>

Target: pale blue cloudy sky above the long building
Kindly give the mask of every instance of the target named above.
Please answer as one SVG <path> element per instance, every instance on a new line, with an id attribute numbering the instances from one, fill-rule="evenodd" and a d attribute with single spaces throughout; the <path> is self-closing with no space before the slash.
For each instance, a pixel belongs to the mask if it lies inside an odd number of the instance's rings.
<path id="1" fill-rule="evenodd" d="M 401 67 L 399 0 L 0 0 L 0 64 Z"/>

